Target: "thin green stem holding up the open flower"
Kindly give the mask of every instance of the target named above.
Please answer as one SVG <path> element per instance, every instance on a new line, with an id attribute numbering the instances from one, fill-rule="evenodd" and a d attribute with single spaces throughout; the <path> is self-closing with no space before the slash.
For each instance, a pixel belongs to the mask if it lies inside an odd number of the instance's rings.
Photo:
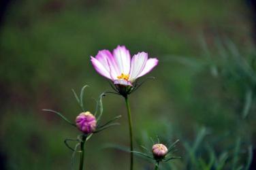
<path id="1" fill-rule="evenodd" d="M 128 101 L 128 97 L 125 97 L 125 103 L 127 107 L 127 114 L 129 119 L 129 135 L 130 135 L 130 170 L 133 169 L 133 128 L 132 128 L 132 122 L 131 122 L 131 109 Z"/>

